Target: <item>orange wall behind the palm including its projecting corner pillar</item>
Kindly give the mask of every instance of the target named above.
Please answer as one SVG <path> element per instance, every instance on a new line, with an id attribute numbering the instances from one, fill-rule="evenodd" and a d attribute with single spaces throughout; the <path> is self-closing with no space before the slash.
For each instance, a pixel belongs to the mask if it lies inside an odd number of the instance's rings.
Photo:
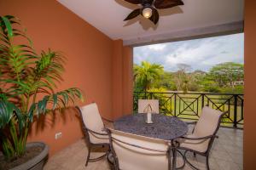
<path id="1" fill-rule="evenodd" d="M 113 41 L 55 0 L 0 0 L 0 15 L 5 14 L 22 21 L 38 53 L 51 48 L 67 56 L 59 90 L 81 88 L 85 102 L 80 105 L 96 102 L 108 119 L 131 113 L 132 48 Z M 55 140 L 58 132 L 62 138 Z M 44 141 L 52 155 L 82 137 L 79 115 L 71 108 L 64 115 L 34 122 L 28 141 Z"/>

